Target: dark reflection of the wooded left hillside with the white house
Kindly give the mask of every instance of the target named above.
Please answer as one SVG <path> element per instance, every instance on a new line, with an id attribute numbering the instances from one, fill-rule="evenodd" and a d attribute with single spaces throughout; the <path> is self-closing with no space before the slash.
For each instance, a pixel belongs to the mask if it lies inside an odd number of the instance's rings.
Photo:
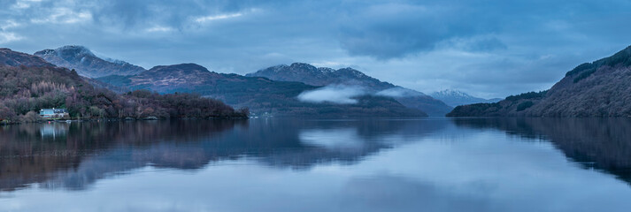
<path id="1" fill-rule="evenodd" d="M 112 149 L 147 147 L 164 142 L 173 134 L 179 137 L 169 141 L 181 142 L 202 135 L 212 137 L 234 125 L 235 121 L 181 121 L 177 125 L 164 121 L 4 126 L 0 128 L 0 190 L 41 183 L 70 173 L 81 168 L 86 159 L 108 155 Z M 42 133 L 50 131 L 51 127 L 57 131 L 57 136 Z M 141 163 L 105 165 L 101 170 L 135 168 Z M 106 171 L 99 172 L 101 175 L 88 174 L 98 178 Z"/>

